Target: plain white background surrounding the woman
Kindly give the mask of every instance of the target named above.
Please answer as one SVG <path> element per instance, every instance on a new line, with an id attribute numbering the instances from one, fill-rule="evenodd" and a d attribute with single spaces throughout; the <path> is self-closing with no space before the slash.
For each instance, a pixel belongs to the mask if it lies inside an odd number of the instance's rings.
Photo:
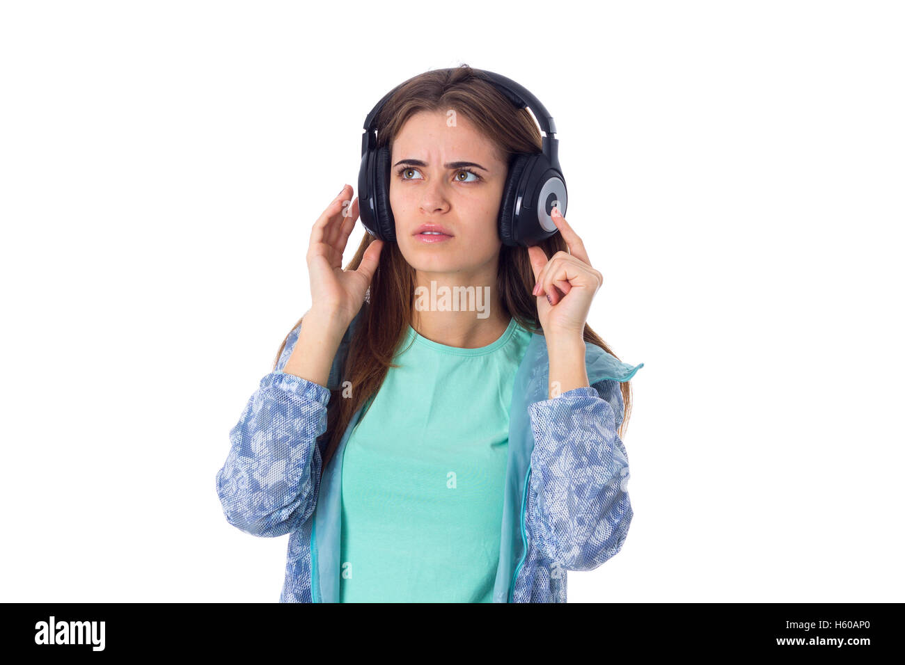
<path id="1" fill-rule="evenodd" d="M 276 602 L 228 432 L 310 307 L 311 223 L 397 83 L 556 119 L 635 512 L 569 602 L 902 601 L 902 8 L 0 5 L 0 600 Z M 357 194 L 357 192 L 356 192 Z M 348 261 L 362 236 L 349 240 Z"/>

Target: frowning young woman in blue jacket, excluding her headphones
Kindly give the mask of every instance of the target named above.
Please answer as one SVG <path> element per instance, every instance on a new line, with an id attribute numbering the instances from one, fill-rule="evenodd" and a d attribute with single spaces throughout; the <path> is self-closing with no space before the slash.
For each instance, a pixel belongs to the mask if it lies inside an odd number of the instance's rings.
<path id="1" fill-rule="evenodd" d="M 554 234 L 501 242 L 510 168 L 542 139 L 480 72 L 386 98 L 395 238 L 366 233 L 343 269 L 340 190 L 311 231 L 311 309 L 230 432 L 217 493 L 233 526 L 291 534 L 283 603 L 565 603 L 566 571 L 627 535 L 643 364 L 586 325 L 601 273 L 555 207 Z"/>

